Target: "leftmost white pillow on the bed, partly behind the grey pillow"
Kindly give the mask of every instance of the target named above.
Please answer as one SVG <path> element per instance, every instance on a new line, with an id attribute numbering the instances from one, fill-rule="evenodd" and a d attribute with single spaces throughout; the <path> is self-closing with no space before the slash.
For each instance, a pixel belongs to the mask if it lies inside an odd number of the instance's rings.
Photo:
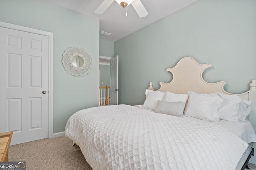
<path id="1" fill-rule="evenodd" d="M 142 107 L 154 110 L 158 100 L 162 100 L 165 93 L 146 89 L 146 100 Z"/>

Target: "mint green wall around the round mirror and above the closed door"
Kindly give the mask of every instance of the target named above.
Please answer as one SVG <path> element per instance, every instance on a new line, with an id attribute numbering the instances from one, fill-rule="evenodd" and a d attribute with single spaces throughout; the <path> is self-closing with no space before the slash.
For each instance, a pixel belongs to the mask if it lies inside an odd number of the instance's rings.
<path id="1" fill-rule="evenodd" d="M 53 132 L 65 130 L 74 112 L 98 104 L 99 20 L 35 0 L 2 0 L 0 21 L 53 33 Z M 83 77 L 66 73 L 61 60 L 70 46 L 86 49 L 92 70 Z"/>

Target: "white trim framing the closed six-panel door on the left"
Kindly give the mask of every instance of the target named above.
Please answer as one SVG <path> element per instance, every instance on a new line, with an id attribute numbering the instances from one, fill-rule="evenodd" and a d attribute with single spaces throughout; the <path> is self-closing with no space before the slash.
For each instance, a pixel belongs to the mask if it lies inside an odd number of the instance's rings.
<path id="1" fill-rule="evenodd" d="M 48 37 L 48 138 L 53 137 L 53 33 L 0 21 L 0 27 Z"/>

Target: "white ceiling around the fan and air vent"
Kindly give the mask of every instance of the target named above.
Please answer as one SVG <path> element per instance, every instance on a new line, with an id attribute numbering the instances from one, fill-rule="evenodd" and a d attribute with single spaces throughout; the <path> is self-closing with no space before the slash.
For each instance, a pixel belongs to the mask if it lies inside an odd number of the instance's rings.
<path id="1" fill-rule="evenodd" d="M 94 11 L 104 0 L 42 1 L 80 12 L 86 16 L 98 18 L 100 20 L 100 31 L 112 33 L 110 36 L 100 34 L 100 39 L 114 42 L 197 0 L 141 0 L 148 11 L 148 15 L 144 18 L 138 16 L 131 4 L 126 7 L 128 16 L 124 18 L 123 8 L 116 1 L 114 1 L 103 14 L 96 14 Z"/>

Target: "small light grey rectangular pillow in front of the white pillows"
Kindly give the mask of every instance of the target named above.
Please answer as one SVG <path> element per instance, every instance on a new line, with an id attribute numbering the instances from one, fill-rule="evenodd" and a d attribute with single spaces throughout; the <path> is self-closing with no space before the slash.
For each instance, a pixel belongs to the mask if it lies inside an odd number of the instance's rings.
<path id="1" fill-rule="evenodd" d="M 183 117 L 186 102 L 165 102 L 158 100 L 155 112 Z"/>

